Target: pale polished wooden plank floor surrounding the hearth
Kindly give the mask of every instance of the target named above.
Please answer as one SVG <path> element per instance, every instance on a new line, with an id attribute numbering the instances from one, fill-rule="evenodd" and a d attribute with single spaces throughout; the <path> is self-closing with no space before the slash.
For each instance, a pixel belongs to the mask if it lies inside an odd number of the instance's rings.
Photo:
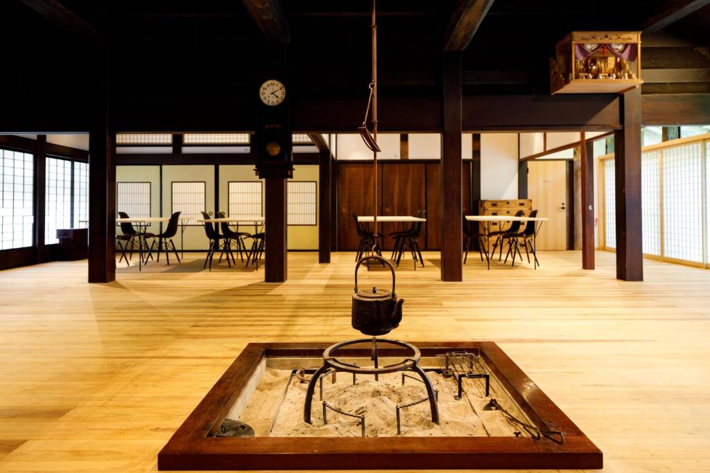
<path id="1" fill-rule="evenodd" d="M 353 253 L 289 255 L 289 280 L 202 256 L 119 266 L 86 284 L 86 262 L 0 272 L 0 471 L 154 471 L 160 447 L 246 343 L 354 338 Z M 647 260 L 614 279 L 614 255 L 542 267 L 476 257 L 463 283 L 398 271 L 403 340 L 493 340 L 605 455 L 606 472 L 710 472 L 710 271 Z M 386 284 L 388 274 L 362 274 Z M 356 465 L 353 465 L 356 467 Z"/>

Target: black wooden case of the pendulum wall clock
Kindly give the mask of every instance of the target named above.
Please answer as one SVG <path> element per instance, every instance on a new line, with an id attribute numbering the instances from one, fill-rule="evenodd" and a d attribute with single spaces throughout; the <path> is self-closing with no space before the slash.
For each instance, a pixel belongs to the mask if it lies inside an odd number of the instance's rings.
<path id="1" fill-rule="evenodd" d="M 286 87 L 283 79 L 277 79 Z M 258 89 L 265 81 L 256 85 L 256 133 L 254 133 L 254 150 L 256 154 L 256 174 L 261 178 L 293 177 L 293 143 L 291 137 L 291 121 L 288 106 L 288 89 L 283 102 L 275 106 L 264 104 L 259 98 Z M 272 143 L 271 146 L 268 146 Z M 275 148 L 278 153 L 271 155 L 268 148 Z"/>

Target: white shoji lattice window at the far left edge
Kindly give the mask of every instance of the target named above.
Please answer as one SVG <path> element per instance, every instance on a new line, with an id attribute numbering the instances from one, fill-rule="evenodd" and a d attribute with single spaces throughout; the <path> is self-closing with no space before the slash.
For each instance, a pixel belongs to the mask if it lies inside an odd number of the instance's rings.
<path id="1" fill-rule="evenodd" d="M 0 250 L 32 246 L 34 156 L 0 149 Z"/>

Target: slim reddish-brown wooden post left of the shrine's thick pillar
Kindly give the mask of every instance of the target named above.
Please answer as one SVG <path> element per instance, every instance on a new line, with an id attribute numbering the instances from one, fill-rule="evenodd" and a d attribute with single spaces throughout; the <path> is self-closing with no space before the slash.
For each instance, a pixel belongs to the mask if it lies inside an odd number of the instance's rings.
<path id="1" fill-rule="evenodd" d="M 594 141 L 581 132 L 581 267 L 594 269 Z"/>

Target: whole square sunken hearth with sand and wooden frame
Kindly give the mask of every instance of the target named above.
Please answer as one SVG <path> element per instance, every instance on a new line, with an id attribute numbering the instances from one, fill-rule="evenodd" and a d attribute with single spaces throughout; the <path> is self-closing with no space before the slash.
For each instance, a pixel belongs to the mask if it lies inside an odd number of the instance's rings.
<path id="1" fill-rule="evenodd" d="M 336 350 L 338 368 L 356 369 L 333 369 Z M 425 376 L 375 379 L 375 355 Z M 491 342 L 378 340 L 377 354 L 367 339 L 250 343 L 158 454 L 161 470 L 601 467 L 599 448 Z"/>

